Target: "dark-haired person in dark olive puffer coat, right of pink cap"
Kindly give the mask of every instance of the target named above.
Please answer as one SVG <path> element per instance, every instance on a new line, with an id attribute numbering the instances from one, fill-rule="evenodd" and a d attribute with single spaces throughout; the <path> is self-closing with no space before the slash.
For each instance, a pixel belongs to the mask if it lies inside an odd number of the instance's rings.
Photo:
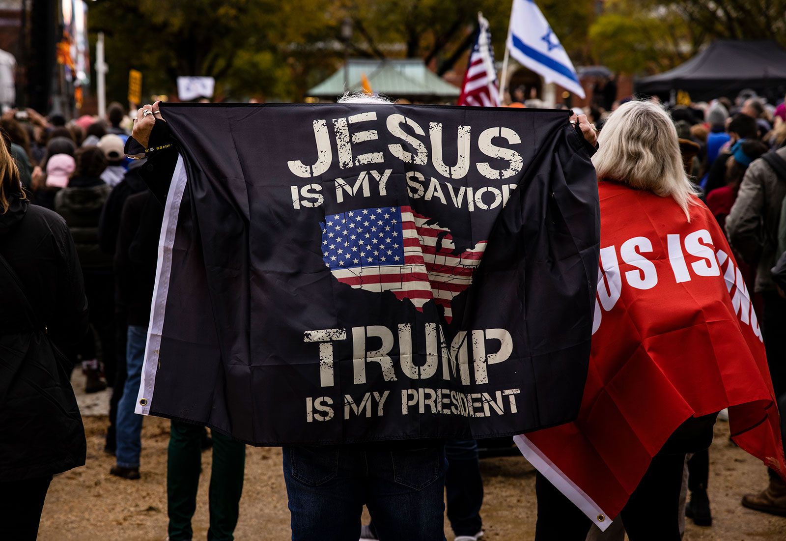
<path id="1" fill-rule="evenodd" d="M 101 209 L 112 190 L 101 180 L 106 158 L 95 146 L 76 151 L 76 170 L 68 186 L 55 196 L 54 207 L 63 216 L 74 237 L 79 263 L 85 277 L 87 299 L 90 301 L 90 324 L 101 342 L 101 356 L 109 381 L 115 377 L 115 285 L 112 278 L 112 256 L 98 245 L 98 220 Z M 76 351 L 86 374 L 85 392 L 106 388 L 101 381 L 95 338 L 90 333 Z"/>

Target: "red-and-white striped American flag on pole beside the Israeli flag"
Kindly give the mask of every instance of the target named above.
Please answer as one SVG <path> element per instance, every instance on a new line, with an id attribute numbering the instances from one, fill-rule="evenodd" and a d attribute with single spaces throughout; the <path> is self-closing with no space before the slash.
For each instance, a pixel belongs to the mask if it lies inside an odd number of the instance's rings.
<path id="1" fill-rule="evenodd" d="M 497 107 L 499 105 L 497 70 L 494 69 L 494 49 L 491 47 L 489 21 L 478 13 L 478 37 L 461 85 L 458 105 Z"/>

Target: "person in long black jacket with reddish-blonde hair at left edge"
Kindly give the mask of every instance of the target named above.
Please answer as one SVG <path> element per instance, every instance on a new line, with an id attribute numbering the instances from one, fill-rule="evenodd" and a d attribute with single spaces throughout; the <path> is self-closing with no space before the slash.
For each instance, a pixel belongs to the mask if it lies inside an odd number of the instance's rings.
<path id="1" fill-rule="evenodd" d="M 0 256 L 0 537 L 31 541 L 52 475 L 85 463 L 82 418 L 55 346 L 82 339 L 87 301 L 68 226 L 28 204 L 2 144 Z"/>

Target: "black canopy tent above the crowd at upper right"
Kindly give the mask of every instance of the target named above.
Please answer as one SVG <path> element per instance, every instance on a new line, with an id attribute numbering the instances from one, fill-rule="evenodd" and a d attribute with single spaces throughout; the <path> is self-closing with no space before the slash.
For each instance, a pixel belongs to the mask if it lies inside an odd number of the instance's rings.
<path id="1" fill-rule="evenodd" d="M 639 94 L 685 90 L 709 97 L 733 95 L 744 88 L 776 91 L 786 86 L 786 50 L 773 41 L 718 40 L 685 64 L 639 79 Z M 767 92 L 769 90 L 769 92 Z"/>

